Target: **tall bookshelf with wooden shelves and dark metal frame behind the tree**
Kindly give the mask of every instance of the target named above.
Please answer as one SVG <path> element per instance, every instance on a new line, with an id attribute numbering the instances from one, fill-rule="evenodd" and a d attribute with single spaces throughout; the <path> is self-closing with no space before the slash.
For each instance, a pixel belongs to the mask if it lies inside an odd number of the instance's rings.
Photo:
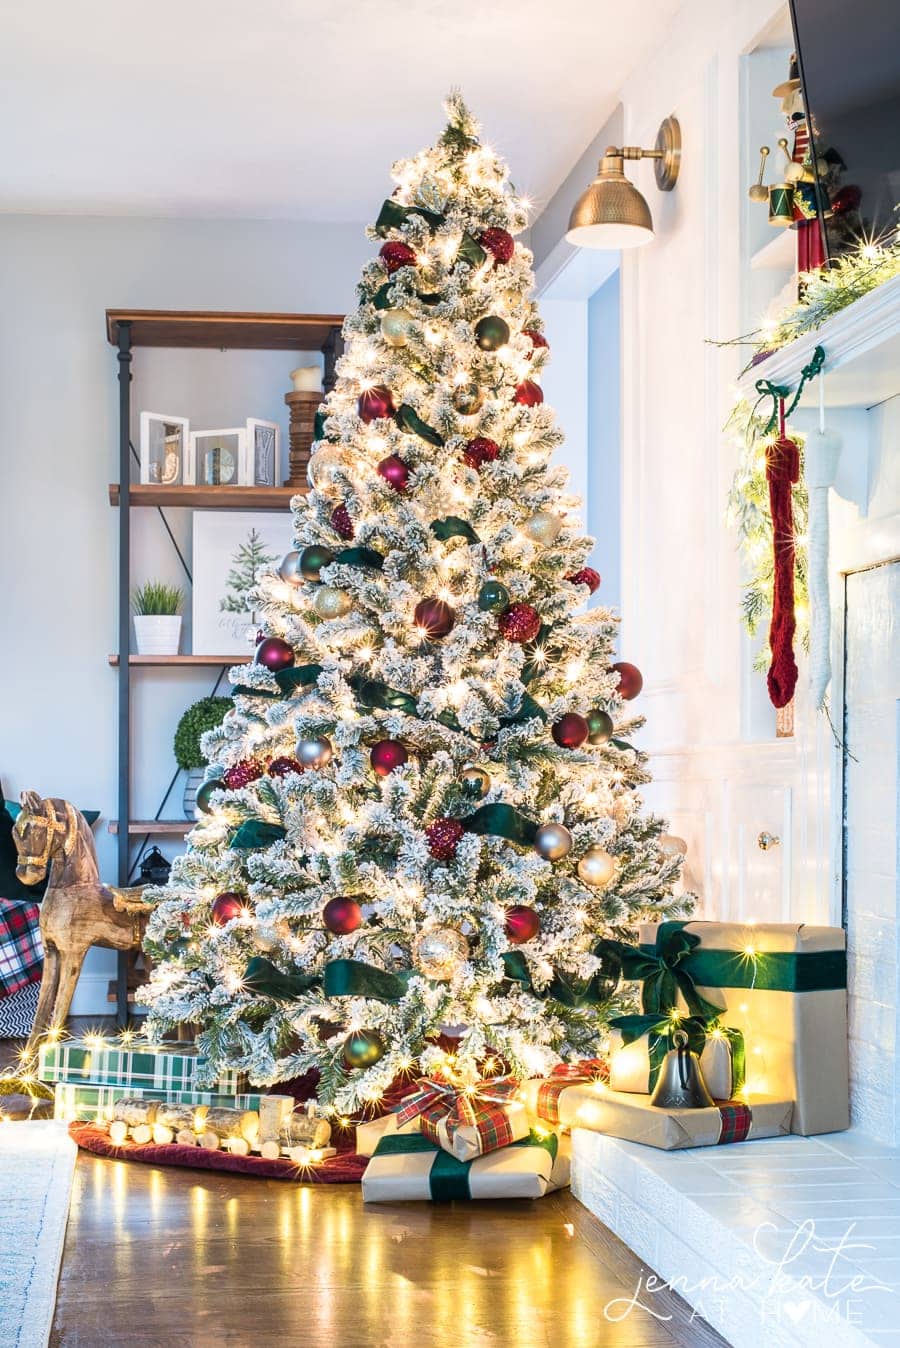
<path id="1" fill-rule="evenodd" d="M 109 832 L 116 834 L 117 883 L 132 883 L 135 857 L 151 837 L 183 837 L 191 828 L 186 820 L 162 817 L 168 797 L 178 780 L 178 768 L 163 795 L 156 817 L 131 817 L 131 693 L 132 671 L 148 669 L 209 667 L 217 670 L 213 693 L 221 686 L 225 671 L 248 656 L 234 655 L 135 655 L 131 651 L 131 511 L 137 507 L 154 508 L 168 534 L 187 580 L 190 569 L 175 542 L 164 510 L 272 510 L 290 508 L 294 487 L 163 487 L 132 481 L 139 458 L 131 438 L 131 386 L 133 352 L 140 346 L 170 346 L 183 349 L 209 348 L 214 350 L 321 350 L 325 357 L 325 392 L 335 380 L 335 364 L 341 355 L 342 314 L 252 314 L 209 313 L 190 310 L 108 309 L 106 340 L 116 349 L 119 363 L 119 481 L 109 485 L 109 504 L 119 510 L 119 650 L 109 655 L 119 681 L 119 818 L 110 820 Z M 125 826 L 120 821 L 127 821 Z M 135 840 L 139 845 L 135 848 Z M 116 976 L 116 1016 L 120 1024 L 128 1019 L 129 958 L 119 954 Z"/>

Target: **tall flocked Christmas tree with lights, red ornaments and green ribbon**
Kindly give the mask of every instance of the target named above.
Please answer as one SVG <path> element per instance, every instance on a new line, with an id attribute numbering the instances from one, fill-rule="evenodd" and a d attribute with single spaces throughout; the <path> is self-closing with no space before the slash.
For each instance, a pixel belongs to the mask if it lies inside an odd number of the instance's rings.
<path id="1" fill-rule="evenodd" d="M 449 117 L 371 231 L 296 551 L 261 581 L 268 635 L 148 930 L 151 1033 L 198 1022 L 257 1082 L 317 1068 L 342 1111 L 404 1072 L 594 1053 L 621 1008 L 598 938 L 678 907 L 637 794 L 640 674 L 586 608 L 593 543 L 551 465 L 527 204 Z"/>

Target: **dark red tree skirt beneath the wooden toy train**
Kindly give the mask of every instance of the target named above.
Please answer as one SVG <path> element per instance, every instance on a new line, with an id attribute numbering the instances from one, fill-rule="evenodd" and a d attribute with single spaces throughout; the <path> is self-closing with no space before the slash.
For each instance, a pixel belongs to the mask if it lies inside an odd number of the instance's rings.
<path id="1" fill-rule="evenodd" d="M 104 1128 L 93 1123 L 70 1123 L 69 1136 L 85 1151 L 113 1161 L 143 1161 L 151 1166 L 187 1166 L 191 1170 L 230 1170 L 232 1174 L 257 1175 L 260 1180 L 294 1180 L 302 1184 L 358 1184 L 369 1163 L 368 1157 L 345 1151 L 329 1157 L 318 1166 L 300 1167 L 287 1157 L 267 1161 L 264 1157 L 233 1157 L 230 1151 L 206 1151 L 203 1147 L 181 1147 L 176 1142 L 158 1146 L 154 1142 L 137 1144 L 124 1142 L 120 1147 L 109 1140 Z"/>

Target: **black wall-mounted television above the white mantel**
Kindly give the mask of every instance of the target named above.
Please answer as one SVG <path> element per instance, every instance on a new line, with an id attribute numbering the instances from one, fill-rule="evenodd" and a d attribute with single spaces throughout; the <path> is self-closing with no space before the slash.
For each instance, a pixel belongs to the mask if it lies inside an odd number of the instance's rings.
<path id="1" fill-rule="evenodd" d="M 834 259 L 900 226 L 900 0 L 791 0 L 791 20 Z"/>

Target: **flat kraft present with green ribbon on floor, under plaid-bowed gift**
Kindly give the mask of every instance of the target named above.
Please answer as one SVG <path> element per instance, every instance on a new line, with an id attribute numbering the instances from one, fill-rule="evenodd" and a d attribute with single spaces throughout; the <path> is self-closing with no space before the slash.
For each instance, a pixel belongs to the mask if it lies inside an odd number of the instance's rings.
<path id="1" fill-rule="evenodd" d="M 531 1134 L 476 1161 L 457 1161 L 418 1134 L 383 1138 L 362 1175 L 364 1202 L 543 1198 L 569 1184 L 555 1134 Z"/>

